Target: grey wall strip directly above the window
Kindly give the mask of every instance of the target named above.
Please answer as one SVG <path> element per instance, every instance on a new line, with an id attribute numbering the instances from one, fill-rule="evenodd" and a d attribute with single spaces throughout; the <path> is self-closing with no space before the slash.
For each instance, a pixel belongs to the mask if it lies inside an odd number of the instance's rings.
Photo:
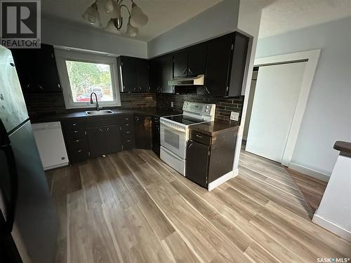
<path id="1" fill-rule="evenodd" d="M 94 28 L 41 19 L 41 41 L 57 46 L 82 48 L 115 55 L 147 58 L 147 43 L 100 32 Z"/>

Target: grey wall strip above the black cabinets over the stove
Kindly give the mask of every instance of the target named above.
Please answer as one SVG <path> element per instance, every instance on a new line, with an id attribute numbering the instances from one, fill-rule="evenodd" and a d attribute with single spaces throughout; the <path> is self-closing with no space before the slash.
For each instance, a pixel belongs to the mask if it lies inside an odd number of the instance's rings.
<path id="1" fill-rule="evenodd" d="M 223 0 L 147 43 L 149 58 L 237 29 L 239 0 Z"/>

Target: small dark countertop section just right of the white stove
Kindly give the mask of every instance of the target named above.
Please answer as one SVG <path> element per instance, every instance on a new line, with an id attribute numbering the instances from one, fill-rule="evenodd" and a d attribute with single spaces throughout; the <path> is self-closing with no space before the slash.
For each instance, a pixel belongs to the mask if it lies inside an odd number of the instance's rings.
<path id="1" fill-rule="evenodd" d="M 237 121 L 211 121 L 207 123 L 199 123 L 189 126 L 190 130 L 196 130 L 199 133 L 204 133 L 208 136 L 218 135 L 228 129 L 238 129 L 240 123 Z"/>

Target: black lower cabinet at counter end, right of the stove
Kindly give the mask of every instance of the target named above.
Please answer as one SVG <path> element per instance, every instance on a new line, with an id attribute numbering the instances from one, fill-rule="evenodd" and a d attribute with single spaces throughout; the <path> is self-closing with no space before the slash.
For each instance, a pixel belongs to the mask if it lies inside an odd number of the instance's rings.
<path id="1" fill-rule="evenodd" d="M 233 169 L 237 128 L 225 130 L 218 135 L 205 135 L 190 130 L 187 142 L 185 177 L 201 187 Z"/>

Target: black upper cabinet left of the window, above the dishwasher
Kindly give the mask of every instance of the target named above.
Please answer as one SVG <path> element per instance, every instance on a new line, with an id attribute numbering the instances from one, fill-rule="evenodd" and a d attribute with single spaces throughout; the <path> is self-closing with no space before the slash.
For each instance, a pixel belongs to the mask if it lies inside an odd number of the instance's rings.
<path id="1" fill-rule="evenodd" d="M 11 49 L 23 93 L 62 92 L 53 46 Z"/>

